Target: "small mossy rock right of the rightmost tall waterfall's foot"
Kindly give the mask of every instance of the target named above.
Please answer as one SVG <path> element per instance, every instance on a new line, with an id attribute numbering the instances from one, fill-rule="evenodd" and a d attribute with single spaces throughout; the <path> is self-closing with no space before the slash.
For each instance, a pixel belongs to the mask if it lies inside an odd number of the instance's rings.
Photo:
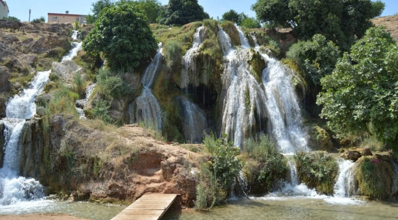
<path id="1" fill-rule="evenodd" d="M 309 139 L 308 144 L 312 150 L 333 150 L 333 143 L 330 139 L 329 133 L 318 125 L 313 125 L 308 129 Z"/>

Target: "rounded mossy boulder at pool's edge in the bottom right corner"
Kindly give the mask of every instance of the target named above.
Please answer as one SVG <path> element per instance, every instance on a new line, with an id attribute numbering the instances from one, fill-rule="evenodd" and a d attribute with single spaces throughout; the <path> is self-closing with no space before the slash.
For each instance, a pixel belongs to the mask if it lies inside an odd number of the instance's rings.
<path id="1" fill-rule="evenodd" d="M 387 155 L 361 157 L 355 163 L 354 184 L 356 192 L 361 196 L 368 196 L 370 199 L 389 199 L 397 194 L 397 187 L 394 187 L 393 158 Z"/>

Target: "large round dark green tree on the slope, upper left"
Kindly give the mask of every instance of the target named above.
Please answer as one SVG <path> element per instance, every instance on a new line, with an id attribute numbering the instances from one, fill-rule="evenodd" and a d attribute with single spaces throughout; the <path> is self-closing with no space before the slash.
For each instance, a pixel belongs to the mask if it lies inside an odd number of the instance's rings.
<path id="1" fill-rule="evenodd" d="M 100 12 L 83 41 L 88 53 L 103 53 L 113 69 L 137 68 L 157 48 L 144 12 L 132 4 L 110 5 Z"/>

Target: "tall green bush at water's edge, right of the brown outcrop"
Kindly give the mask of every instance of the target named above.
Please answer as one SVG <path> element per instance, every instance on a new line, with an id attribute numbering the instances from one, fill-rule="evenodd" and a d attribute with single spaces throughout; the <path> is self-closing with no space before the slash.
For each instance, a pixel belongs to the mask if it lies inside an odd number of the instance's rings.
<path id="1" fill-rule="evenodd" d="M 239 149 L 222 139 L 216 139 L 213 133 L 203 139 L 206 157 L 200 167 L 197 186 L 198 210 L 211 208 L 225 202 L 232 182 L 242 169 L 242 162 L 236 159 Z"/>

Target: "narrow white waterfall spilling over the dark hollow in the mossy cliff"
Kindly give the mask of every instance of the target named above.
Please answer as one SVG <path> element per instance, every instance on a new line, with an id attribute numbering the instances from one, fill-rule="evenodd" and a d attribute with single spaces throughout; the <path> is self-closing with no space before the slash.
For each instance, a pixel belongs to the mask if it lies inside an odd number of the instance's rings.
<path id="1" fill-rule="evenodd" d="M 200 26 L 195 34 L 194 41 L 192 42 L 192 47 L 187 51 L 187 53 L 182 58 L 182 63 L 184 65 L 184 69 L 181 74 L 181 88 L 188 88 L 188 85 L 191 82 L 190 76 L 196 76 L 196 62 L 194 60 L 196 54 L 199 52 L 200 47 L 203 44 L 205 38 L 206 28 L 204 26 Z"/>

